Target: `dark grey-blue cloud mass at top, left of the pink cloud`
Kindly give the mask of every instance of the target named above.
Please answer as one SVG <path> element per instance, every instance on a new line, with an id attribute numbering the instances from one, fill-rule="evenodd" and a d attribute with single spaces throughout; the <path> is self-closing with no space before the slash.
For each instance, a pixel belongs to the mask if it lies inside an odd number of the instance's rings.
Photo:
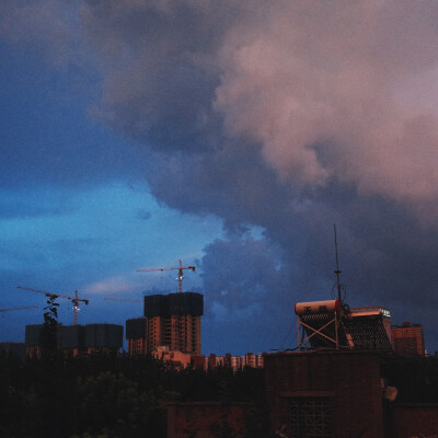
<path id="1" fill-rule="evenodd" d="M 110 72 L 97 115 L 159 150 L 189 153 L 217 146 L 220 117 L 211 102 L 219 70 L 210 58 L 235 21 L 231 11 L 184 1 L 99 1 L 89 2 L 81 19 Z"/>

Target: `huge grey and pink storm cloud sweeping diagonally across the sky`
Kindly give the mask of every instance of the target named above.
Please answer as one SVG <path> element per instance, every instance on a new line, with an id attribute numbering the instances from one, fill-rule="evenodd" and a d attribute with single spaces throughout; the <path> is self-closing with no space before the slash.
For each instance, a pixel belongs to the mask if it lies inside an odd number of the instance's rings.
<path id="1" fill-rule="evenodd" d="M 153 195 L 223 218 L 199 262 L 211 321 L 267 313 L 277 336 L 293 301 L 330 298 L 336 222 L 351 302 L 424 323 L 438 348 L 436 2 L 36 3 L 3 16 L 99 72 L 90 114 L 142 151 Z"/>

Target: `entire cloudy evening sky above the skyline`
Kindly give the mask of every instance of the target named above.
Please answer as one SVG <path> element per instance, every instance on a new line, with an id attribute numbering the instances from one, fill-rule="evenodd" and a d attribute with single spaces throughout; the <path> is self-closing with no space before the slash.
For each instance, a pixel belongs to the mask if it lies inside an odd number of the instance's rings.
<path id="1" fill-rule="evenodd" d="M 203 291 L 203 353 L 296 345 L 293 303 L 422 323 L 438 349 L 438 3 L 3 0 L 1 341 L 44 297 L 124 323 Z M 72 322 L 68 302 L 61 321 Z"/>

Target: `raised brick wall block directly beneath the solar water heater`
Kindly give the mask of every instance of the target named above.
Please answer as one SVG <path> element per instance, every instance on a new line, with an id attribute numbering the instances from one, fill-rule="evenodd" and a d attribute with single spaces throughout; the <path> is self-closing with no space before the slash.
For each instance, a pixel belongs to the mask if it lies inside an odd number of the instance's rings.
<path id="1" fill-rule="evenodd" d="M 297 405 L 327 402 L 336 438 L 383 438 L 380 358 L 370 351 L 303 351 L 265 357 L 270 431 L 297 426 Z M 302 401 L 302 402 L 301 402 Z M 310 402 L 309 402 L 310 401 Z M 301 414 L 303 415 L 303 414 Z M 302 419 L 306 423 L 306 419 Z M 328 422 L 328 420 L 327 420 Z M 303 426 L 300 426 L 303 427 Z"/>

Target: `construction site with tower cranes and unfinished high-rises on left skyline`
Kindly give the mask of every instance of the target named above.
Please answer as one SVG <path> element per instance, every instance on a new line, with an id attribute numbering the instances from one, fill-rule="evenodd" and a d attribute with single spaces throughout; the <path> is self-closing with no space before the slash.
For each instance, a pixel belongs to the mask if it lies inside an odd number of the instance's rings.
<path id="1" fill-rule="evenodd" d="M 204 314 L 204 296 L 195 292 L 183 292 L 183 272 L 195 270 L 195 266 L 147 268 L 138 272 L 177 270 L 178 291 L 169 295 L 151 295 L 143 297 L 143 316 L 126 321 L 126 338 L 129 355 L 151 355 L 160 347 L 168 351 L 178 351 L 191 356 L 200 356 L 200 316 Z M 18 286 L 19 289 L 44 295 L 48 298 L 45 310 L 50 309 L 54 319 L 57 315 L 57 299 L 66 299 L 72 303 L 73 325 L 58 323 L 56 337 L 58 347 L 68 355 L 84 356 L 93 353 L 120 353 L 124 327 L 117 324 L 78 324 L 80 304 L 89 304 L 90 300 L 79 297 L 78 291 L 68 296 L 41 289 Z M 129 301 L 107 298 L 107 300 Z M 141 302 L 141 300 L 134 300 Z M 22 310 L 35 307 L 3 309 Z M 48 314 L 49 310 L 45 314 Z M 41 357 L 44 343 L 44 324 L 26 325 L 25 347 L 28 356 Z M 188 360 L 189 361 L 189 360 Z"/>

